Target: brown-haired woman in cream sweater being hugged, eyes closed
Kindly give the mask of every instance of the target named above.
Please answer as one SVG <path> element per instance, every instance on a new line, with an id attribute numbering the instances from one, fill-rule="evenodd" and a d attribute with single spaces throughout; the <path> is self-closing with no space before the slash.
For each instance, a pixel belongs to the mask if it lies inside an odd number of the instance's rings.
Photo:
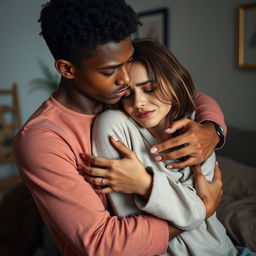
<path id="1" fill-rule="evenodd" d="M 216 214 L 207 216 L 205 205 L 193 186 L 191 168 L 170 170 L 171 161 L 158 162 L 161 154 L 155 159 L 149 154 L 152 145 L 171 136 L 164 132 L 171 121 L 193 119 L 196 109 L 192 79 L 162 45 L 139 40 L 134 42 L 134 48 L 132 82 L 119 106 L 122 111 L 103 112 L 97 117 L 93 130 L 96 155 L 120 157 L 109 143 L 109 136 L 114 135 L 148 167 L 147 172 L 131 170 L 128 183 L 122 182 L 122 177 L 117 179 L 119 187 L 115 191 L 123 193 L 109 194 L 113 208 L 120 217 L 145 211 L 186 231 L 169 242 L 167 255 L 237 255 Z M 178 135 L 177 132 L 175 136 Z M 209 181 L 213 178 L 214 165 L 214 153 L 201 165 Z M 93 178 L 87 179 L 96 183 Z M 102 178 L 102 185 L 112 186 L 104 182 Z M 109 187 L 98 191 L 109 192 Z"/>

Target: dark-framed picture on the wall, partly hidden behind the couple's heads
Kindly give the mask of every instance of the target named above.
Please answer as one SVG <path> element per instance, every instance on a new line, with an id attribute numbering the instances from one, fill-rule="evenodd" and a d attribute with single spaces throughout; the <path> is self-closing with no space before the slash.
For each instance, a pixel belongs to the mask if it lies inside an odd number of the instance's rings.
<path id="1" fill-rule="evenodd" d="M 151 38 L 168 47 L 168 8 L 159 8 L 138 13 L 139 20 L 142 23 L 138 27 L 136 38 Z"/>

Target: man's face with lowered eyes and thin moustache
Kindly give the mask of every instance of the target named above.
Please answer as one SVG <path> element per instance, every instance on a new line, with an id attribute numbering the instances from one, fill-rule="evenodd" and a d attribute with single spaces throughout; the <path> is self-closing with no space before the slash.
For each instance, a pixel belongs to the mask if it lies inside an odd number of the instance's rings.
<path id="1" fill-rule="evenodd" d="M 100 45 L 96 50 L 97 56 L 83 60 L 76 68 L 73 86 L 94 100 L 114 104 L 125 94 L 130 83 L 131 38 Z"/>

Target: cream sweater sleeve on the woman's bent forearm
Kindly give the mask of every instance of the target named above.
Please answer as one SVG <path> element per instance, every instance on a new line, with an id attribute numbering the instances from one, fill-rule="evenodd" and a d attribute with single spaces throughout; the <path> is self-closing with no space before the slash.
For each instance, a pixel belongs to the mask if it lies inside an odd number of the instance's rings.
<path id="1" fill-rule="evenodd" d="M 202 173 L 211 181 L 214 173 L 215 153 L 202 165 Z M 197 228 L 205 220 L 205 207 L 196 194 L 190 167 L 181 172 L 183 177 L 177 181 L 168 171 L 153 171 L 153 188 L 148 201 L 136 196 L 136 205 L 143 211 L 169 221 L 182 230 Z M 169 174 L 168 174 L 169 172 Z"/>

